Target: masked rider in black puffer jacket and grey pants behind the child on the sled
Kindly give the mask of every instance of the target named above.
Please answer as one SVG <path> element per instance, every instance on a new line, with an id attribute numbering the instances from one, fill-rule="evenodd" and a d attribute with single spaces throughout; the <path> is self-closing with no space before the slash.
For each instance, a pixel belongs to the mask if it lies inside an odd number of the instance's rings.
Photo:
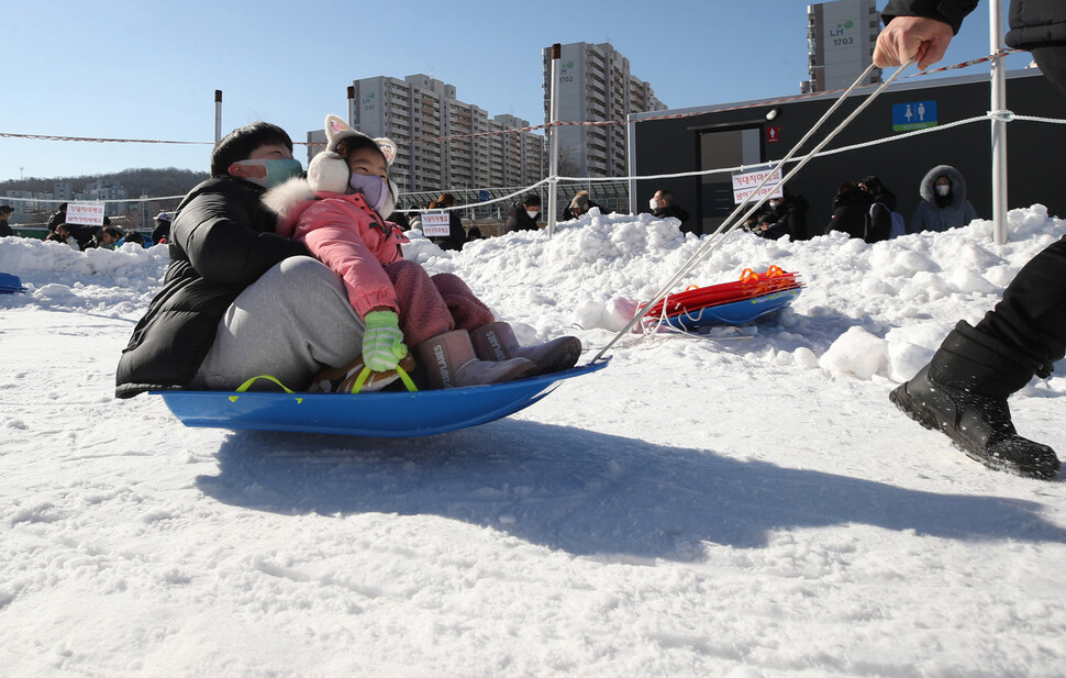
<path id="1" fill-rule="evenodd" d="M 322 320 L 332 308 L 338 309 L 342 320 L 355 318 L 340 279 L 310 257 L 302 243 L 277 235 L 276 216 L 260 202 L 271 173 L 276 173 L 274 180 L 281 180 L 293 171 L 292 164 L 299 168 L 291 149 L 285 131 L 268 123 L 241 127 L 215 147 L 212 177 L 185 197 L 175 215 L 163 289 L 119 358 L 119 398 L 148 390 L 235 388 L 259 374 L 301 388 L 303 384 L 295 380 L 302 375 L 310 379 L 319 367 L 306 352 L 329 357 L 334 363 L 331 366 L 358 355 L 362 326 L 357 319 L 345 326 Z M 275 159 L 279 160 L 276 165 L 256 165 Z M 254 173 L 265 174 L 256 177 Z M 315 287 L 318 280 L 325 284 Z M 268 284 L 275 287 L 267 289 Z M 252 290 L 260 291 L 265 299 L 255 312 L 252 307 L 234 304 L 238 296 Z M 266 322 L 267 327 L 256 326 L 256 322 Z M 349 332 L 355 340 L 347 341 Z M 344 340 L 345 349 L 354 344 L 354 355 L 334 356 L 342 349 L 320 342 L 322 334 Z M 209 356 L 213 359 L 222 351 L 219 337 L 236 342 L 229 355 L 236 355 L 237 362 L 259 359 L 262 365 L 252 363 L 247 369 L 260 371 L 223 386 L 214 384 L 211 375 L 201 375 Z"/>

